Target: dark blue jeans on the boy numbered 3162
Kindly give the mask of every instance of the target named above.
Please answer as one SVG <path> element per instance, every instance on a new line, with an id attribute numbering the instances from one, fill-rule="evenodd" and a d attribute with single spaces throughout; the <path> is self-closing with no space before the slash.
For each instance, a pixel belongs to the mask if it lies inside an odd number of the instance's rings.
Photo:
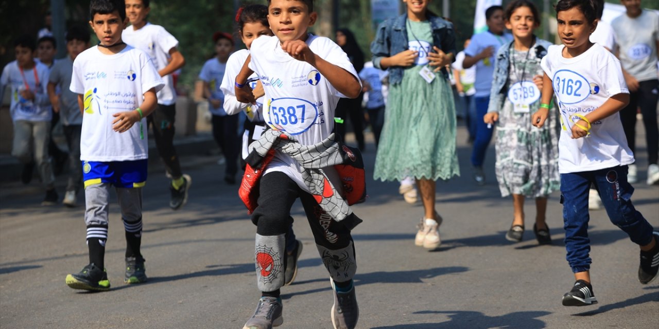
<path id="1" fill-rule="evenodd" d="M 609 219 L 637 245 L 652 242 L 652 225 L 631 203 L 634 188 L 627 182 L 627 166 L 561 174 L 561 203 L 567 262 L 573 272 L 590 269 L 588 188 L 594 184 Z"/>

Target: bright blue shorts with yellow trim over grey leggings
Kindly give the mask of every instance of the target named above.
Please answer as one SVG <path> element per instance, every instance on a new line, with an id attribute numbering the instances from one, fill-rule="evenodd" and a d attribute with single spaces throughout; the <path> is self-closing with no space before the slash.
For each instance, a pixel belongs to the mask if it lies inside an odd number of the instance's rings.
<path id="1" fill-rule="evenodd" d="M 117 188 L 142 188 L 146 184 L 148 159 L 136 161 L 82 161 L 84 187 L 101 183 Z"/>

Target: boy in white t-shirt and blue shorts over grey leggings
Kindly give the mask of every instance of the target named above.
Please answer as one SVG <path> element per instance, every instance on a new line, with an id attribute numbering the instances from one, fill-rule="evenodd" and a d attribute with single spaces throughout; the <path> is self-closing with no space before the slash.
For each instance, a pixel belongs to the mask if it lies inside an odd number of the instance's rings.
<path id="1" fill-rule="evenodd" d="M 105 272 L 109 193 L 114 186 L 126 231 L 125 282 L 146 281 L 142 243 L 142 187 L 146 184 L 146 116 L 163 88 L 150 57 L 121 40 L 123 0 L 92 0 L 89 24 L 100 43 L 76 57 L 71 91 L 82 114 L 80 160 L 85 189 L 89 265 L 67 275 L 73 289 L 109 290 Z"/>

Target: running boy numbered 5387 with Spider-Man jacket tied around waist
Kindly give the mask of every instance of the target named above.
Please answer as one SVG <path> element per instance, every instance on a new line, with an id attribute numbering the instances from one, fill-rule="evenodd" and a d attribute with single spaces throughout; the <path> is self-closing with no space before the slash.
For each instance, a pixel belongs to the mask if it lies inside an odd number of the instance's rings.
<path id="1" fill-rule="evenodd" d="M 355 328 L 359 315 L 353 285 L 357 263 L 350 230 L 361 220 L 339 195 L 347 190 L 341 191 L 333 165 L 341 163 L 341 150 L 355 160 L 359 154 L 337 143 L 331 132 L 339 97 L 357 97 L 361 85 L 336 43 L 308 34 L 317 18 L 312 0 L 268 3 L 268 21 L 275 36 L 260 36 L 252 42 L 251 55 L 235 82 L 237 99 L 253 104 L 254 95 L 246 83 L 258 72 L 268 99 L 262 111 L 271 129 L 250 145 L 250 157 L 274 151 L 270 163 L 258 168 L 264 174 L 252 222 L 257 227 L 256 276 L 262 297 L 244 328 L 269 329 L 283 322 L 279 298 L 284 284 L 282 255 L 291 206 L 297 197 L 331 276 L 334 328 Z M 249 179 L 246 172 L 242 185 Z"/>

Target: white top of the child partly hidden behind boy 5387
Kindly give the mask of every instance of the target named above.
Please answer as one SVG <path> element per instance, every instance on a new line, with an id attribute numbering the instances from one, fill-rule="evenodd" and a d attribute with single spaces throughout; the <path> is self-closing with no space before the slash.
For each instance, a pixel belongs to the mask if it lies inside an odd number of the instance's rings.
<path id="1" fill-rule="evenodd" d="M 260 97 L 256 99 L 256 107 L 251 104 L 241 103 L 236 99 L 235 85 L 236 85 L 236 76 L 241 72 L 245 60 L 249 56 L 249 51 L 247 49 L 241 49 L 229 56 L 227 59 L 227 67 L 224 72 L 224 78 L 222 79 L 222 84 L 220 85 L 221 91 L 224 93 L 224 111 L 229 114 L 238 114 L 241 111 L 244 111 L 247 114 L 247 118 L 254 122 L 262 122 L 262 109 L 265 97 Z M 258 82 L 258 74 L 252 74 L 248 81 L 250 82 L 250 88 L 256 88 L 256 83 Z"/>

